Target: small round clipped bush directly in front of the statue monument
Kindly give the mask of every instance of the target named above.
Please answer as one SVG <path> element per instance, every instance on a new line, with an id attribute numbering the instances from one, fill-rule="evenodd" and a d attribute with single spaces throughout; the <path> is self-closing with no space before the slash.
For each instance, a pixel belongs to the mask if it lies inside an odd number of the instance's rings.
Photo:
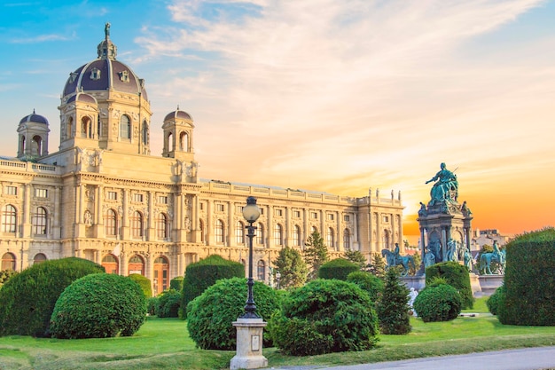
<path id="1" fill-rule="evenodd" d="M 425 287 L 413 303 L 418 317 L 424 322 L 457 319 L 461 311 L 461 297 L 457 289 L 448 284 Z"/>

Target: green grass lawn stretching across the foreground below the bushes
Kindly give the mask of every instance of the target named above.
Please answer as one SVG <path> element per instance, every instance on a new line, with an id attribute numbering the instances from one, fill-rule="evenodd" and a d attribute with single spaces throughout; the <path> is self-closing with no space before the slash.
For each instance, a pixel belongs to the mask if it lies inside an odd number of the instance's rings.
<path id="1" fill-rule="evenodd" d="M 477 317 L 443 323 L 412 319 L 409 335 L 380 335 L 378 348 L 295 358 L 264 349 L 269 366 L 348 365 L 474 351 L 555 345 L 555 327 L 515 327 L 485 314 L 485 298 L 475 304 Z M 468 311 L 470 312 L 470 311 Z M 151 318 L 132 337 L 108 339 L 0 338 L 0 369 L 224 369 L 234 351 L 198 350 L 179 319 Z"/>

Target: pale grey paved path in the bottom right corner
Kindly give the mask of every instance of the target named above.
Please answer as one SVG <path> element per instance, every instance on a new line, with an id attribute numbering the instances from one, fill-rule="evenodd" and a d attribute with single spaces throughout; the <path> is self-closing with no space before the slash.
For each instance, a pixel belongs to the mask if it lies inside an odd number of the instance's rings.
<path id="1" fill-rule="evenodd" d="M 282 366 L 266 370 L 539 370 L 555 369 L 555 346 L 496 350 L 466 355 L 414 358 L 349 366 Z"/>

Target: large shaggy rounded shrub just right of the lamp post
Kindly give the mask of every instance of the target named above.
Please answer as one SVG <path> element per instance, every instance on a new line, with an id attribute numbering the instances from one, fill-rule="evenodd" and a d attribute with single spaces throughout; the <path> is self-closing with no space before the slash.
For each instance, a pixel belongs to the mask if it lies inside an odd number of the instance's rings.
<path id="1" fill-rule="evenodd" d="M 354 283 L 317 279 L 293 289 L 268 328 L 285 354 L 317 355 L 369 350 L 378 342 L 370 296 Z"/>

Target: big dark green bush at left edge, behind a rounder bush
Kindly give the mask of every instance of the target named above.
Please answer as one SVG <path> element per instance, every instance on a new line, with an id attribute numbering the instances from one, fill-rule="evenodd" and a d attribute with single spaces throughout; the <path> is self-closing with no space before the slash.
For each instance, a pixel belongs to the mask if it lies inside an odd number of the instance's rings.
<path id="1" fill-rule="evenodd" d="M 68 257 L 34 264 L 14 275 L 0 289 L 0 335 L 50 336 L 59 295 L 74 280 L 105 272 L 94 262 Z"/>

